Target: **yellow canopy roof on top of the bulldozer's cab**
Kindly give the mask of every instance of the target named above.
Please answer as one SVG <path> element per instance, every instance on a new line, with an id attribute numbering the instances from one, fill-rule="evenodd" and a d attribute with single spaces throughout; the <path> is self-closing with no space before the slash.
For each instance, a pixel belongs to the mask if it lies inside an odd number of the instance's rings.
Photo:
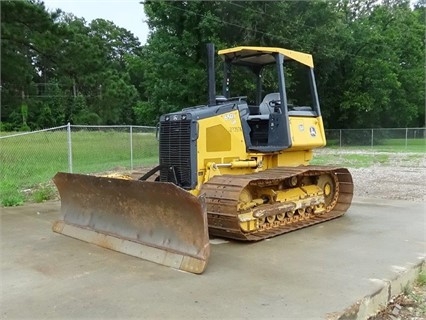
<path id="1" fill-rule="evenodd" d="M 294 60 L 313 68 L 312 55 L 308 53 L 274 47 L 235 47 L 219 50 L 218 54 L 223 58 L 234 60 L 236 64 L 264 66 L 275 63 L 274 53 L 281 53 L 285 60 Z"/>

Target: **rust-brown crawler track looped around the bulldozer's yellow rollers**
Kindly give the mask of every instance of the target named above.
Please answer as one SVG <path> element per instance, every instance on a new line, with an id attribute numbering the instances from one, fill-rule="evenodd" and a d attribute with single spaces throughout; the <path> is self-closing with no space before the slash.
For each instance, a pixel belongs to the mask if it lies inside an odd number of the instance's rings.
<path id="1" fill-rule="evenodd" d="M 240 195 L 247 186 L 274 188 L 286 179 L 297 177 L 315 178 L 328 175 L 334 181 L 333 193 L 320 214 L 309 213 L 295 218 L 275 221 L 256 231 L 243 232 L 240 228 L 238 210 Z M 353 197 L 352 176 L 345 168 L 307 166 L 277 167 L 247 175 L 216 176 L 205 183 L 201 193 L 206 195 L 209 233 L 211 235 L 246 241 L 258 241 L 279 234 L 305 228 L 342 216 L 349 208 Z M 277 204 L 261 204 L 258 208 L 277 210 Z"/>

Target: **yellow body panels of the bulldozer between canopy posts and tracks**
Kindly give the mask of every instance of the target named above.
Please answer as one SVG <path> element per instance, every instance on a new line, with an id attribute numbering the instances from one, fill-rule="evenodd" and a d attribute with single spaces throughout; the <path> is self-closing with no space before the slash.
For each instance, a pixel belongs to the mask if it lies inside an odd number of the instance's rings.
<path id="1" fill-rule="evenodd" d="M 312 149 L 325 145 L 321 117 L 289 117 L 292 146 L 274 153 L 248 152 L 238 110 L 198 120 L 198 195 L 203 183 L 217 175 L 244 175 L 283 166 L 306 166 Z"/>

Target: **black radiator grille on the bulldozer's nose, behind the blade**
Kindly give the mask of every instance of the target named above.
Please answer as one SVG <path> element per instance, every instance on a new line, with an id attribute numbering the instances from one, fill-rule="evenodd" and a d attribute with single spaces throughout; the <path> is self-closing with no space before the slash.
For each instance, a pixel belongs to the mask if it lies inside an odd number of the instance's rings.
<path id="1" fill-rule="evenodd" d="M 161 123 L 160 165 L 160 181 L 191 189 L 191 121 Z"/>

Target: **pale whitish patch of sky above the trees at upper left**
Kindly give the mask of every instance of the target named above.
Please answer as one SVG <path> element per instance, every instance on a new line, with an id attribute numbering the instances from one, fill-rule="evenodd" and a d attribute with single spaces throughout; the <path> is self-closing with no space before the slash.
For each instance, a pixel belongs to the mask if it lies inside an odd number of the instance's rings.
<path id="1" fill-rule="evenodd" d="M 146 43 L 148 25 L 141 0 L 43 0 L 50 11 L 61 9 L 87 22 L 102 18 L 132 32 L 142 44 Z"/>

